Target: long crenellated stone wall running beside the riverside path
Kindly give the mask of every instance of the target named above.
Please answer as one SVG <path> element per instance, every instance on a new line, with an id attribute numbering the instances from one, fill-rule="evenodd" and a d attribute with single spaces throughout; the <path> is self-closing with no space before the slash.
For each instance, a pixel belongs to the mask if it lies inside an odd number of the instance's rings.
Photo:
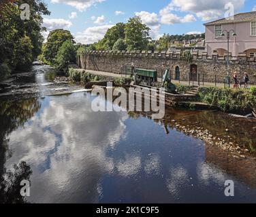
<path id="1" fill-rule="evenodd" d="M 87 52 L 78 56 L 78 66 L 80 68 L 105 71 L 110 73 L 121 73 L 124 66 L 135 66 L 135 68 L 145 68 L 157 70 L 158 77 L 161 77 L 166 69 L 170 69 L 170 77 L 175 79 L 176 67 L 180 71 L 180 80 L 189 79 L 205 82 L 214 82 L 215 77 L 218 83 L 222 83 L 227 75 L 227 54 L 219 57 L 218 54 L 207 56 L 206 53 L 198 55 L 193 52 L 192 61 L 182 60 L 180 53 L 167 52 Z M 256 82 L 256 58 L 248 58 L 246 54 L 239 54 L 238 57 L 231 57 L 229 54 L 230 75 L 236 71 L 242 80 L 244 72 L 249 74 L 251 83 Z M 191 75 L 191 65 L 196 65 L 197 75 Z M 192 66 L 193 68 L 193 66 Z"/>

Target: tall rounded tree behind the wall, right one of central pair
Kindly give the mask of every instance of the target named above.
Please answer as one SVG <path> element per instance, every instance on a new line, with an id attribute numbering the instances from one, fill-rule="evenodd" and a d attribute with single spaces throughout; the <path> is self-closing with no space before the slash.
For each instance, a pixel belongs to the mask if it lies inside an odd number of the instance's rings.
<path id="1" fill-rule="evenodd" d="M 142 24 L 139 17 L 130 18 L 125 24 L 125 43 L 127 50 L 146 50 L 149 42 L 150 28 L 146 24 Z"/>

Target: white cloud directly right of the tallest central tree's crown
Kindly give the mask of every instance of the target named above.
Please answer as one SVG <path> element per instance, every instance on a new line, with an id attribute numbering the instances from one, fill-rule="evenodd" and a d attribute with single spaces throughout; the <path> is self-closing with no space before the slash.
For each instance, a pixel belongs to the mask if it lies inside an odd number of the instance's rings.
<path id="1" fill-rule="evenodd" d="M 135 16 L 140 17 L 142 22 L 151 29 L 150 37 L 152 37 L 152 39 L 159 39 L 159 37 L 161 37 L 160 35 L 161 24 L 159 22 L 159 17 L 157 14 L 142 11 L 142 12 L 135 12 Z"/>

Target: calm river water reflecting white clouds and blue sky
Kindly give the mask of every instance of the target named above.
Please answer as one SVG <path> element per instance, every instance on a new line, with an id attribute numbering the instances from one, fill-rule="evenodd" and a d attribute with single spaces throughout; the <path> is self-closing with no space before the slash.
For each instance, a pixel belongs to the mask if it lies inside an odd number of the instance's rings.
<path id="1" fill-rule="evenodd" d="M 33 82 L 51 82 L 45 75 Z M 31 195 L 23 202 L 256 202 L 255 121 L 182 109 L 167 109 L 157 121 L 143 113 L 95 113 L 93 98 L 78 92 L 1 100 L 0 181 L 12 191 L 0 191 L 0 199 L 19 197 L 18 181 L 29 179 Z M 228 136 L 251 157 L 235 159 L 178 130 L 173 119 Z M 20 162 L 26 166 L 12 169 Z M 234 197 L 225 196 L 226 180 L 234 181 Z"/>

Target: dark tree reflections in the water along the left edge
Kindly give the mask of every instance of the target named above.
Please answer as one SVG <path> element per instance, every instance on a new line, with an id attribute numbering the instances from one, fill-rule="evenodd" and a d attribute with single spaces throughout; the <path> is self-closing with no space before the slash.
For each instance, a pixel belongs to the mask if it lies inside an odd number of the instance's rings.
<path id="1" fill-rule="evenodd" d="M 37 98 L 0 102 L 0 203 L 27 203 L 20 195 L 20 182 L 30 180 L 32 170 L 25 161 L 15 164 L 12 170 L 6 170 L 5 161 L 12 155 L 7 136 L 24 125 L 40 108 Z"/>

